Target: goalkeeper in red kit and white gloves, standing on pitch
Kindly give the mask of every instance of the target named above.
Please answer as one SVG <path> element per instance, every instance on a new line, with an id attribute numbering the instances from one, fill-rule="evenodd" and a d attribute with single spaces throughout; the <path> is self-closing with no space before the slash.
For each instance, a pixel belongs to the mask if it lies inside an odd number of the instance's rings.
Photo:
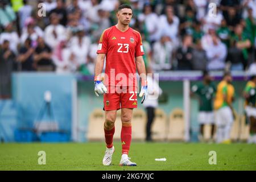
<path id="1" fill-rule="evenodd" d="M 114 152 L 113 135 L 117 110 L 121 109 L 122 156 L 120 166 L 137 166 L 128 157 L 131 144 L 131 118 L 137 108 L 136 68 L 141 78 L 142 103 L 147 96 L 146 69 L 143 60 L 141 34 L 129 27 L 133 12 L 129 5 L 121 5 L 117 11 L 118 23 L 102 32 L 95 65 L 94 92 L 104 94 L 106 151 L 102 163 L 109 166 Z M 106 58 L 104 83 L 101 77 Z"/>

